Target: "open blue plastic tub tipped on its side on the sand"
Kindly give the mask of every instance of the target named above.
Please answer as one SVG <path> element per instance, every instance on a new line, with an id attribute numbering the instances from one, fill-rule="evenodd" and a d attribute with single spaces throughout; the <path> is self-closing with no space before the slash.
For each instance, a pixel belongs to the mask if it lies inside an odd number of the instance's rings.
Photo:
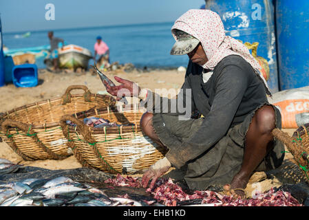
<path id="1" fill-rule="evenodd" d="M 38 68 L 35 64 L 16 65 L 12 69 L 12 80 L 16 87 L 38 85 Z"/>

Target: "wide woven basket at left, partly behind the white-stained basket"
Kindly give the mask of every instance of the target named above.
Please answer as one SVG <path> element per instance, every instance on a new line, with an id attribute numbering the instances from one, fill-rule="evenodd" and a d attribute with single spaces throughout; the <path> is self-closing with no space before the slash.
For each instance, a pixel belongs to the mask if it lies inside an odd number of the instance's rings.
<path id="1" fill-rule="evenodd" d="M 84 94 L 71 94 L 83 89 Z M 67 87 L 61 98 L 27 104 L 1 115 L 0 135 L 25 160 L 64 159 L 72 155 L 59 120 L 62 115 L 114 105 L 111 96 L 91 94 L 84 85 Z"/>

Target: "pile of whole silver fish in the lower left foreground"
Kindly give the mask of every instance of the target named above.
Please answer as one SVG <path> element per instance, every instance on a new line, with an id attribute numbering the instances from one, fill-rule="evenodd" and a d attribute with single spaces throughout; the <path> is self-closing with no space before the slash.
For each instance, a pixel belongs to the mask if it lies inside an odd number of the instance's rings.
<path id="1" fill-rule="evenodd" d="M 0 159 L 0 175 L 14 173 L 20 166 Z M 147 203 L 154 204 L 156 200 L 140 203 L 127 195 L 107 197 L 103 190 L 68 177 L 0 184 L 0 206 L 147 206 Z"/>

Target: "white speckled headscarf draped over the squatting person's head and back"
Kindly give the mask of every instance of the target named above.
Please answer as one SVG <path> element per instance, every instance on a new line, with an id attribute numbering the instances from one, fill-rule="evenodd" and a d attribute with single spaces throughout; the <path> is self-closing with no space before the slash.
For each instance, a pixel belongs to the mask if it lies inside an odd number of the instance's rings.
<path id="1" fill-rule="evenodd" d="M 176 30 L 186 32 L 200 41 L 209 60 L 202 65 L 204 69 L 215 69 L 215 66 L 226 56 L 232 54 L 242 56 L 264 82 L 266 92 L 270 95 L 266 80 L 259 72 L 261 66 L 245 45 L 225 35 L 224 25 L 217 13 L 211 10 L 189 10 L 182 14 L 171 28 L 173 37 L 177 41 Z"/>

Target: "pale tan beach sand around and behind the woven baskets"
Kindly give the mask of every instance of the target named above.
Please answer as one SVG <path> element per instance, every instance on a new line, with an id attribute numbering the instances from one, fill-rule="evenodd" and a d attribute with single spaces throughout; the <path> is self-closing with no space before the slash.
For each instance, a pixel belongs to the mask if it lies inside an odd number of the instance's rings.
<path id="1" fill-rule="evenodd" d="M 117 70 L 116 72 L 107 72 L 107 76 L 111 79 L 114 79 L 114 76 L 119 76 L 138 83 L 140 87 L 152 90 L 160 88 L 178 89 L 184 82 L 184 74 L 184 72 L 177 72 L 177 70 L 156 70 L 153 72 L 138 72 L 136 70 L 129 73 Z M 117 84 L 116 80 L 114 82 Z M 92 74 L 90 71 L 81 73 L 61 72 L 55 74 L 45 69 L 40 69 L 39 85 L 36 87 L 17 88 L 13 84 L 0 87 L 0 112 L 10 111 L 24 104 L 61 97 L 65 89 L 70 85 L 85 85 L 94 94 L 99 91 L 105 91 L 105 87 L 102 85 L 98 75 Z M 83 90 L 72 91 L 72 94 L 78 93 L 83 93 Z M 0 158 L 6 158 L 12 162 L 27 166 L 38 166 L 52 170 L 81 167 L 81 164 L 74 155 L 63 160 L 25 161 L 17 153 L 14 153 L 6 142 L 0 142 Z"/>

